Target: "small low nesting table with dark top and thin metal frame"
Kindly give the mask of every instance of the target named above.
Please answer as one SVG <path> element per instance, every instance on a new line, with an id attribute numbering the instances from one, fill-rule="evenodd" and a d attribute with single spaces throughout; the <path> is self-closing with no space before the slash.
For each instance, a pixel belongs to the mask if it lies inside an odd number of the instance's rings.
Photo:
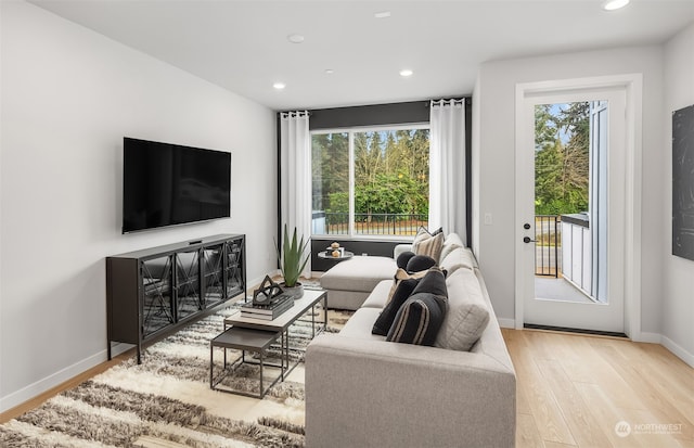
<path id="1" fill-rule="evenodd" d="M 281 346 L 284 347 L 284 333 L 282 332 L 273 332 L 273 331 L 264 331 L 264 330 L 253 330 L 253 329 L 244 329 L 240 327 L 231 327 L 226 330 L 219 336 L 215 337 L 209 343 L 209 387 L 213 391 L 221 391 L 228 392 L 231 394 L 245 395 L 253 398 L 265 397 L 265 394 L 277 384 L 278 381 L 284 381 L 284 371 L 286 370 L 286 366 L 284 364 L 284 356 L 282 356 L 282 366 L 277 364 L 267 364 L 265 362 L 265 353 L 266 350 L 278 341 L 278 338 L 282 338 Z M 224 349 L 224 369 L 222 374 L 215 379 L 215 347 L 221 347 Z M 239 357 L 231 366 L 231 369 L 235 369 L 236 367 L 245 363 L 254 363 L 260 366 L 260 387 L 258 391 L 258 395 L 234 391 L 231 388 L 217 387 L 219 383 L 227 376 L 227 348 L 233 348 L 236 350 L 241 350 L 241 357 Z M 246 351 L 257 353 L 260 360 L 259 362 L 250 362 L 246 360 Z M 275 367 L 280 368 L 280 375 L 274 379 L 274 381 L 268 385 L 267 387 L 262 387 L 262 369 L 264 367 Z"/>

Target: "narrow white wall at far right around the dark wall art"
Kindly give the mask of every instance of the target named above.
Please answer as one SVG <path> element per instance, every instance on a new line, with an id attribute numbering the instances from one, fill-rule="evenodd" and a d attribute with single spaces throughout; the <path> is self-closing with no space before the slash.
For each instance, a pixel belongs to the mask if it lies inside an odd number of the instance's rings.
<path id="1" fill-rule="evenodd" d="M 672 115 L 694 104 L 694 23 L 665 46 L 663 344 L 694 366 L 694 261 L 672 255 Z"/>

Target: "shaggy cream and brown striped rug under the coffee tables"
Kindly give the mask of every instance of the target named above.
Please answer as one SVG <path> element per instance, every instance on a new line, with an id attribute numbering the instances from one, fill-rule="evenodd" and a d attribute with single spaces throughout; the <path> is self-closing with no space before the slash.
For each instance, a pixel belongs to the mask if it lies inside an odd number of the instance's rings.
<path id="1" fill-rule="evenodd" d="M 209 341 L 234 311 L 230 307 L 193 323 L 147 347 L 141 364 L 130 358 L 0 425 L 0 446 L 303 447 L 303 363 L 262 400 L 209 388 Z M 331 310 L 327 331 L 337 331 L 349 316 Z M 294 325 L 290 340 L 291 357 L 300 360 L 310 323 Z M 228 350 L 229 359 L 237 355 Z M 221 359 L 219 350 L 218 372 Z M 258 368 L 244 364 L 222 385 L 255 393 L 257 379 Z"/>

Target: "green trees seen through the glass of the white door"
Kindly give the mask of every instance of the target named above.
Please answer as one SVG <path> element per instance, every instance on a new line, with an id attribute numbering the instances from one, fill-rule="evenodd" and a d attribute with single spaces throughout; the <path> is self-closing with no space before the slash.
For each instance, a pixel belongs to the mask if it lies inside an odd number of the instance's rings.
<path id="1" fill-rule="evenodd" d="M 535 108 L 535 214 L 588 210 L 590 104 Z"/>

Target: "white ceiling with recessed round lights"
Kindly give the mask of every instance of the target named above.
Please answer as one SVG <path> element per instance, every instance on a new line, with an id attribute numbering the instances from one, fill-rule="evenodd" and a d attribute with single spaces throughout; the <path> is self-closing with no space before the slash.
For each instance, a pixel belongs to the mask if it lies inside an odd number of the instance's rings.
<path id="1" fill-rule="evenodd" d="M 485 61 L 663 43 L 694 21 L 694 0 L 31 3 L 274 110 L 468 94 Z"/>

